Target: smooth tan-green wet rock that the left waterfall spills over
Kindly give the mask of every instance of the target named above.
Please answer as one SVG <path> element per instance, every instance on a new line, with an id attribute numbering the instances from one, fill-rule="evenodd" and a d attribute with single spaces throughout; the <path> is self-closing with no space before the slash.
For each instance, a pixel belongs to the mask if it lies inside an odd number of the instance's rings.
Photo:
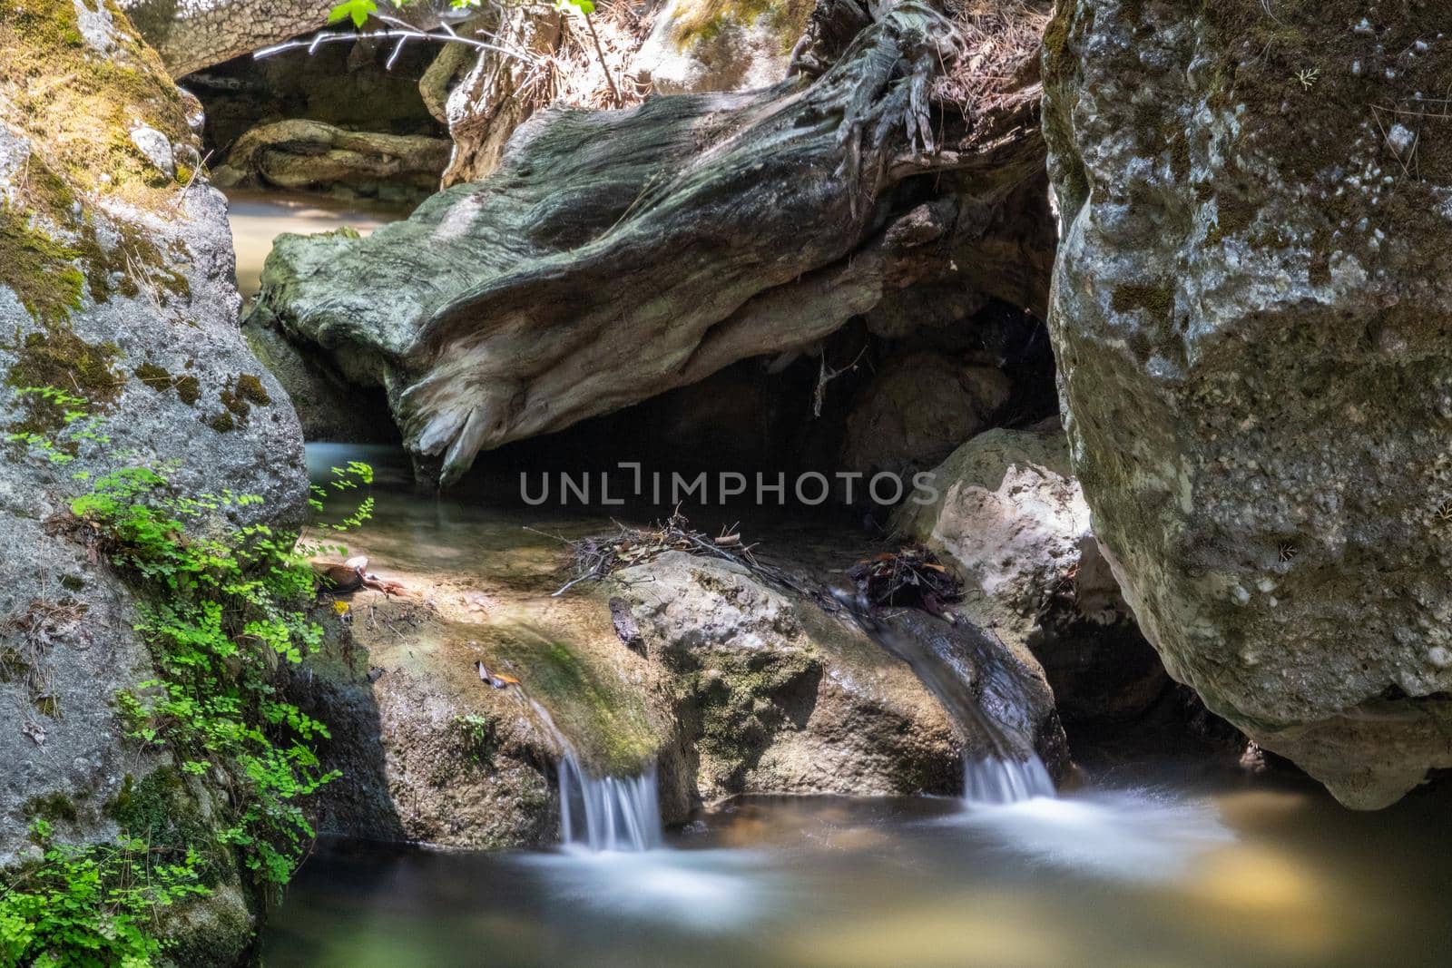
<path id="1" fill-rule="evenodd" d="M 385 575 L 424 601 L 354 596 L 367 618 L 308 657 L 289 689 L 331 724 L 321 756 L 343 772 L 318 797 L 319 829 L 468 849 L 555 843 L 566 752 L 597 775 L 658 763 L 662 816 L 685 819 L 671 707 L 656 700 L 648 663 L 616 639 L 603 599 L 478 585 L 462 598 L 440 575 Z M 476 662 L 520 685 L 491 688 Z"/>

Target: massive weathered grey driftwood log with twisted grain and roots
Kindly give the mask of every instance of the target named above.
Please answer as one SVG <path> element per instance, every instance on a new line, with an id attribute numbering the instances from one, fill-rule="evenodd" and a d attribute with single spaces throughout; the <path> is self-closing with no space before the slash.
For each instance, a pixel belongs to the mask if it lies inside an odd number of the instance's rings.
<path id="1" fill-rule="evenodd" d="M 839 6 L 862 28 L 839 52 L 819 30 L 815 78 L 542 112 L 492 177 L 404 222 L 282 237 L 248 325 L 383 386 L 421 475 L 450 483 L 481 450 L 806 347 L 909 286 L 1043 312 L 1035 58 L 966 97 L 945 81 L 968 42 L 937 9 Z"/>

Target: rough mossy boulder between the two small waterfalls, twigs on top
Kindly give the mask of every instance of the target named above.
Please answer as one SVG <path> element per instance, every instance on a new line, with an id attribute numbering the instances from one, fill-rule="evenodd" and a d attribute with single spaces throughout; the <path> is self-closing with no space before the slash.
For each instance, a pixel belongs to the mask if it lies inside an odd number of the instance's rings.
<path id="1" fill-rule="evenodd" d="M 961 789 L 961 758 L 993 753 L 973 715 L 954 717 L 925 681 L 954 672 L 1019 752 L 1064 768 L 1053 695 L 1031 657 L 968 628 L 902 615 L 886 641 L 950 655 L 893 655 L 842 615 L 764 583 L 746 569 L 671 551 L 617 575 L 617 608 L 635 647 L 674 685 L 696 792 L 912 794 Z M 922 673 L 922 678 L 919 676 Z M 995 698 L 989 682 L 1011 684 Z M 984 694 L 987 691 L 987 694 Z M 957 718 L 957 721 L 955 721 Z"/>

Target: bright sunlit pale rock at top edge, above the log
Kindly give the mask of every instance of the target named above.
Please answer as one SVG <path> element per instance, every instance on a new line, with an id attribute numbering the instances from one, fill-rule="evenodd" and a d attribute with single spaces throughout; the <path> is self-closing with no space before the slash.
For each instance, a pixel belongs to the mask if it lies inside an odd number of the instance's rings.
<path id="1" fill-rule="evenodd" d="M 664 0 L 633 61 L 658 94 L 768 87 L 787 75 L 812 3 Z"/>

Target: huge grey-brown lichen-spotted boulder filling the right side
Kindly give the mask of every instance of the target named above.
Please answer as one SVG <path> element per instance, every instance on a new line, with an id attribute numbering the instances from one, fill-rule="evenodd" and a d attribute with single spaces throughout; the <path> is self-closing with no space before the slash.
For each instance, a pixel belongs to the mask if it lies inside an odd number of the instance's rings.
<path id="1" fill-rule="evenodd" d="M 1439 3 L 1061 0 L 1074 470 L 1172 676 L 1343 803 L 1452 766 Z"/>

